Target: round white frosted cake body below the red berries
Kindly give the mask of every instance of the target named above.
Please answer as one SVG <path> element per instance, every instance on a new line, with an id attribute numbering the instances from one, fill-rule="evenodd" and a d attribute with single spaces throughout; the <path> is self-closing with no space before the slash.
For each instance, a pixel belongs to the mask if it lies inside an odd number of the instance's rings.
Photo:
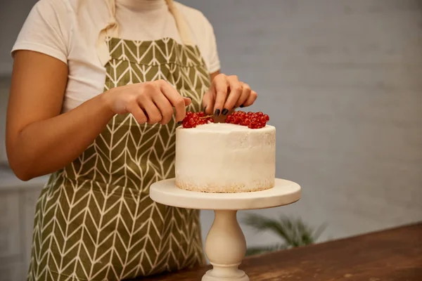
<path id="1" fill-rule="evenodd" d="M 234 124 L 177 128 L 176 183 L 204 192 L 248 192 L 274 186 L 276 128 Z"/>

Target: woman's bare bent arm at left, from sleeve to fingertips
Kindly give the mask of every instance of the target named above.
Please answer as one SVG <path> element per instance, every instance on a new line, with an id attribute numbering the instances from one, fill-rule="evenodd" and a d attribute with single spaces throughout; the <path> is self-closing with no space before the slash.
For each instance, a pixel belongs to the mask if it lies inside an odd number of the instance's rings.
<path id="1" fill-rule="evenodd" d="M 76 159 L 116 114 L 131 113 L 140 124 L 167 124 L 176 111 L 184 119 L 189 98 L 166 81 L 106 91 L 60 115 L 68 67 L 49 55 L 15 53 L 6 122 L 6 151 L 23 181 L 50 174 Z"/>

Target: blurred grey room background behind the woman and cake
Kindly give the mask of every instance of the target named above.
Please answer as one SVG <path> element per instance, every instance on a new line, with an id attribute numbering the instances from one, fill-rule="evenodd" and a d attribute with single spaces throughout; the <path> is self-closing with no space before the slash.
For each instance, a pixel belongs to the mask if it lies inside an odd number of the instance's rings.
<path id="1" fill-rule="evenodd" d="M 35 0 L 0 0 L 0 280 L 25 280 L 46 177 L 21 182 L 4 148 L 10 50 Z M 422 1 L 181 0 L 215 29 L 222 71 L 259 93 L 277 129 L 288 207 L 241 211 L 248 247 L 283 242 L 248 214 L 300 218 L 317 242 L 422 221 Z M 212 211 L 203 211 L 203 235 Z M 256 221 L 255 221 L 256 222 Z"/>

